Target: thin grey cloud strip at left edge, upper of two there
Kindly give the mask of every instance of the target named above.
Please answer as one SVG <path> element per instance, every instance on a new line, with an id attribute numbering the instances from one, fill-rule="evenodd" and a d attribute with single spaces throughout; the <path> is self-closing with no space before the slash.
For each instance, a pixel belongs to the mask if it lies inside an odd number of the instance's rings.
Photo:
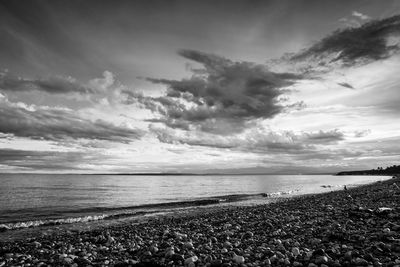
<path id="1" fill-rule="evenodd" d="M 68 77 L 50 77 L 48 79 L 25 79 L 0 72 L 0 90 L 2 91 L 44 91 L 50 94 L 94 93 L 94 90 L 81 85 Z"/>

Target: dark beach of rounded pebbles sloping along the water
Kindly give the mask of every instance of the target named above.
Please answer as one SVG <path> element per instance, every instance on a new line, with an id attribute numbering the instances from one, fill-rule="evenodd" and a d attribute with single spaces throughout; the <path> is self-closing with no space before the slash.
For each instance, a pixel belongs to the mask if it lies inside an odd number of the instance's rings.
<path id="1" fill-rule="evenodd" d="M 0 266 L 400 266 L 399 180 L 0 242 Z"/>

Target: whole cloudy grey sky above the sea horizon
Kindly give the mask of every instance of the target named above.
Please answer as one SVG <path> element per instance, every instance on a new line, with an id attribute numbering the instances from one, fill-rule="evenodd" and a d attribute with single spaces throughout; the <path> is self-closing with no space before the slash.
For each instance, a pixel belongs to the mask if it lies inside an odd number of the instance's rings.
<path id="1" fill-rule="evenodd" d="M 400 1 L 0 0 L 0 172 L 400 159 Z"/>

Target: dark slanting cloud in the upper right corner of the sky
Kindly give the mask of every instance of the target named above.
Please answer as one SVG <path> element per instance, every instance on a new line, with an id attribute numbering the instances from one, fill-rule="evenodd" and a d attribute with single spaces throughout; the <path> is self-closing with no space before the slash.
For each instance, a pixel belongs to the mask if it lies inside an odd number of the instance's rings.
<path id="1" fill-rule="evenodd" d="M 341 61 L 345 65 L 353 65 L 385 59 L 399 51 L 398 44 L 388 42 L 389 37 L 399 35 L 400 16 L 375 20 L 360 27 L 337 30 L 305 51 L 292 56 L 291 60 L 323 59 L 328 54 L 336 54 L 330 62 L 321 64 Z"/>

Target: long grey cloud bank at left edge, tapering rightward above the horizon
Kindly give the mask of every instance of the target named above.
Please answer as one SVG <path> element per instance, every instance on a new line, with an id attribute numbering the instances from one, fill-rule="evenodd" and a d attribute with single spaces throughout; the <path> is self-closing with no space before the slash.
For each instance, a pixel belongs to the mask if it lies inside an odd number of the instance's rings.
<path id="1" fill-rule="evenodd" d="M 32 139 L 98 139 L 128 143 L 139 139 L 143 131 L 118 127 L 111 123 L 80 118 L 62 109 L 32 108 L 0 101 L 0 132 Z"/>

